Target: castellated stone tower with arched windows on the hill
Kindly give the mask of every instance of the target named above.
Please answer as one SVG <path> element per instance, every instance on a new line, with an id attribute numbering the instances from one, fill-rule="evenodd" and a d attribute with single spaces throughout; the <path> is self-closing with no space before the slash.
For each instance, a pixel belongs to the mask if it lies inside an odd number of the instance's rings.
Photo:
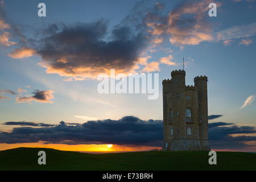
<path id="1" fill-rule="evenodd" d="M 163 80 L 163 151 L 209 151 L 208 78 L 197 76 L 195 86 L 186 86 L 185 74 L 175 70 Z"/>

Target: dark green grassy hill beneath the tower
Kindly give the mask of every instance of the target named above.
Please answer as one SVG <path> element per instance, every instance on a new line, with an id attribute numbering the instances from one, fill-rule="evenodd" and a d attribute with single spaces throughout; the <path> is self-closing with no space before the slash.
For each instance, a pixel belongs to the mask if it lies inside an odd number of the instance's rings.
<path id="1" fill-rule="evenodd" d="M 38 151 L 46 151 L 46 165 Z M 217 152 L 217 165 L 208 152 L 126 152 L 87 154 L 51 148 L 14 148 L 0 151 L 0 170 L 256 170 L 256 154 Z"/>

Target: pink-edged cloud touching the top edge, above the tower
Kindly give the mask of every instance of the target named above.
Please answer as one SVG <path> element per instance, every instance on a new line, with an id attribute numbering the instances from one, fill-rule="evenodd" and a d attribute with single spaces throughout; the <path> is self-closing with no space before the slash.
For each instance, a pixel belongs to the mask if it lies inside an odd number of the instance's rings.
<path id="1" fill-rule="evenodd" d="M 168 34 L 174 45 L 197 45 L 212 40 L 211 28 L 205 20 L 210 1 L 186 1 L 168 16 Z"/>

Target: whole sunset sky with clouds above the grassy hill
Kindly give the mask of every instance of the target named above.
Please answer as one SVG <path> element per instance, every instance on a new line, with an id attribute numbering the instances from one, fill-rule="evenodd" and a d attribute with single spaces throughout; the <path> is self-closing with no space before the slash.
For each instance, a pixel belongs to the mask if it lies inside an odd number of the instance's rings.
<path id="1" fill-rule="evenodd" d="M 1 1 L 0 150 L 160 148 L 162 80 L 184 57 L 186 85 L 208 77 L 211 148 L 255 152 L 255 10 L 253 0 Z M 159 97 L 98 93 L 110 69 L 158 73 Z"/>

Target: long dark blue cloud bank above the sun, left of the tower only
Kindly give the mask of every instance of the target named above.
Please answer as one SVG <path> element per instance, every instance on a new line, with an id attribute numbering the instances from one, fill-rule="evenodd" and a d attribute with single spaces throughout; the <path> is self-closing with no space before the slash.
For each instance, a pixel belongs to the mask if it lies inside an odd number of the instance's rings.
<path id="1" fill-rule="evenodd" d="M 163 122 L 143 121 L 127 116 L 118 120 L 88 121 L 78 126 L 68 126 L 61 121 L 53 127 L 16 127 L 11 133 L 0 133 L 0 143 L 30 143 L 40 140 L 64 144 L 145 144 L 162 145 Z"/>

